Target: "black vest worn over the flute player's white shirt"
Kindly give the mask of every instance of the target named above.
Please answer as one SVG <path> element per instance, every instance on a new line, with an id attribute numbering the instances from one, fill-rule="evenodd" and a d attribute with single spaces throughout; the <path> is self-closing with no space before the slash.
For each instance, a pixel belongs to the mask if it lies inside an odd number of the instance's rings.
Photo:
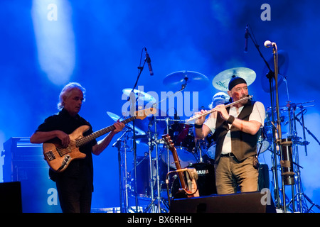
<path id="1" fill-rule="evenodd" d="M 238 118 L 241 120 L 248 121 L 249 116 L 252 113 L 253 105 L 255 101 L 248 101 L 247 104 L 243 107 Z M 229 113 L 230 107 L 227 108 Z M 213 140 L 215 140 L 215 163 L 218 163 L 218 160 L 221 155 L 223 141 L 225 140 L 225 135 L 227 135 L 229 130 L 228 123 L 220 117 L 220 114 L 217 115 L 217 122 L 215 124 L 215 132 L 213 133 Z M 259 133 L 251 135 L 249 133 L 244 133 L 240 129 L 231 126 L 231 152 L 235 155 L 238 161 L 245 160 L 246 157 L 257 154 L 257 140 Z"/>

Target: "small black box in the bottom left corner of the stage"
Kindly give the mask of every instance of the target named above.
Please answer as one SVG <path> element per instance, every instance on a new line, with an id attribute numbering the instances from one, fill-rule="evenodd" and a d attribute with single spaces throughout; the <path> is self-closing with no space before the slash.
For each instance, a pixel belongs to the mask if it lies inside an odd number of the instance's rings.
<path id="1" fill-rule="evenodd" d="M 0 184 L 0 214 L 21 213 L 21 184 L 7 182 Z"/>

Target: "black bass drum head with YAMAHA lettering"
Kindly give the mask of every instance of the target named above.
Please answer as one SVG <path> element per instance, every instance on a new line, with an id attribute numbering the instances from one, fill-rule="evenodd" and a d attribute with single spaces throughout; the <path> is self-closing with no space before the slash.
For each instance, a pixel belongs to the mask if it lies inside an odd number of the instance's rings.
<path id="1" fill-rule="evenodd" d="M 215 187 L 215 168 L 213 165 L 206 163 L 195 163 L 189 167 L 195 168 L 198 173 L 197 186 L 200 196 L 217 194 L 217 189 Z M 171 194 L 175 196 L 180 188 L 181 185 L 179 178 L 174 177 L 174 182 L 171 186 Z"/>

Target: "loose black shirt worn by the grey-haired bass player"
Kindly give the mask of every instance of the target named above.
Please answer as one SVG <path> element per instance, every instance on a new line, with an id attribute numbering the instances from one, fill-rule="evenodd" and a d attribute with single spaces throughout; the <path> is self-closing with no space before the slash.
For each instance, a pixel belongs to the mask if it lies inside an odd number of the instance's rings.
<path id="1" fill-rule="evenodd" d="M 90 126 L 89 130 L 83 133 L 83 136 L 90 135 L 93 131 L 89 122 L 78 114 L 75 117 L 70 116 L 68 111 L 62 109 L 58 114 L 46 118 L 36 131 L 48 132 L 60 130 L 71 134 L 75 129 L 83 125 Z M 97 144 L 97 140 L 94 139 L 90 143 L 82 145 L 79 150 L 85 153 L 86 157 L 84 159 L 72 160 L 63 172 L 57 173 L 49 170 L 50 179 L 56 181 L 58 177 L 73 177 L 93 182 L 92 146 L 95 144 Z"/>

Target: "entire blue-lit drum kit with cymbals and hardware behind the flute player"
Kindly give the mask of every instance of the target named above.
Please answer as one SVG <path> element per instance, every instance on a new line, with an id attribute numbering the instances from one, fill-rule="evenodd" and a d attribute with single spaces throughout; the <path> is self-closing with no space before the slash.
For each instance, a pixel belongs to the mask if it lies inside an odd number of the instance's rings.
<path id="1" fill-rule="evenodd" d="M 280 56 L 280 67 L 282 75 L 286 73 L 287 57 L 285 53 Z M 282 61 L 283 60 L 283 61 Z M 255 81 L 256 74 L 253 70 L 245 67 L 232 68 L 225 70 L 217 74 L 213 80 L 212 84 L 215 89 L 220 91 L 228 90 L 228 82 L 233 77 L 242 77 L 246 80 L 248 86 Z M 263 75 L 265 77 L 265 75 Z M 282 76 L 285 78 L 284 76 Z M 264 79 L 262 79 L 263 81 Z M 178 90 L 181 92 L 183 89 L 188 89 L 191 91 L 199 91 L 208 86 L 209 79 L 205 75 L 198 72 L 191 71 L 179 71 L 168 74 L 163 83 L 169 87 L 171 90 Z M 263 86 L 265 92 L 273 92 L 272 89 L 267 89 L 267 86 Z M 272 86 L 270 86 L 272 87 Z M 154 101 L 154 97 L 146 94 L 142 91 L 136 89 L 124 89 L 124 94 L 129 95 L 132 91 L 136 94 L 136 101 Z M 282 111 L 281 122 L 283 125 L 289 124 L 289 132 L 282 133 L 282 135 L 287 134 L 289 140 L 292 140 L 292 162 L 294 167 L 291 172 L 296 173 L 293 181 L 289 184 L 297 185 L 297 196 L 293 198 L 292 204 L 297 204 L 302 209 L 302 185 L 298 160 L 298 149 L 297 145 L 306 145 L 308 142 L 304 140 L 301 142 L 297 136 L 296 122 L 302 124 L 304 131 L 306 127 L 304 126 L 303 116 L 305 114 L 306 106 L 309 102 L 302 104 L 292 104 L 291 102 L 286 106 L 280 106 L 280 111 Z M 273 104 L 272 104 L 273 105 Z M 311 105 L 312 106 L 312 105 Z M 297 110 L 299 114 L 296 114 Z M 279 158 L 282 160 L 281 155 L 277 152 L 276 143 L 277 135 L 277 123 L 274 121 L 274 108 L 266 109 L 266 119 L 265 126 L 262 128 L 260 139 L 257 141 L 257 153 L 262 154 L 267 150 L 270 150 L 272 157 L 272 177 L 274 177 L 274 196 L 279 196 L 277 194 L 280 189 L 277 187 L 277 172 L 282 168 L 277 165 L 276 160 Z M 107 114 L 112 118 L 112 120 L 117 121 L 122 117 L 117 116 L 111 112 Z M 285 116 L 287 114 L 287 116 Z M 300 116 L 300 118 L 297 118 Z M 214 155 L 215 155 L 215 143 L 212 139 L 212 135 L 209 134 L 204 140 L 196 140 L 193 134 L 194 127 L 193 124 L 187 122 L 186 120 L 181 120 L 179 116 L 174 117 L 164 117 L 161 116 L 148 116 L 144 121 L 134 121 L 132 124 L 128 124 L 124 129 L 124 133 L 118 138 L 114 146 L 118 148 L 119 151 L 119 182 L 120 182 L 120 204 L 122 212 L 166 212 L 169 211 L 169 201 L 174 199 L 178 188 L 180 187 L 177 175 L 172 175 L 167 179 L 168 172 L 174 172 L 176 166 L 174 165 L 174 158 L 172 157 L 166 145 L 164 145 L 161 140 L 161 135 L 169 134 L 175 148 L 177 150 L 178 158 L 182 168 L 191 167 L 195 168 L 198 173 L 198 191 L 200 196 L 207 196 L 210 194 L 216 194 L 215 189 L 215 174 L 214 174 Z M 309 131 L 308 131 L 309 132 Z M 128 152 L 134 151 L 138 145 L 145 145 L 148 150 L 144 152 L 144 155 L 134 154 L 134 160 L 132 167 L 129 167 Z M 272 146 L 273 145 L 273 146 Z M 155 152 L 155 153 L 154 153 Z M 288 185 L 288 184 L 287 184 Z M 130 205 L 129 199 L 135 199 L 135 206 Z M 139 204 L 141 200 L 147 201 L 147 206 L 145 209 L 139 210 Z M 279 200 L 275 201 L 275 204 L 281 205 Z M 288 205 L 287 205 L 288 206 Z M 316 205 L 317 206 L 317 205 Z M 134 209 L 135 208 L 135 209 Z"/>

